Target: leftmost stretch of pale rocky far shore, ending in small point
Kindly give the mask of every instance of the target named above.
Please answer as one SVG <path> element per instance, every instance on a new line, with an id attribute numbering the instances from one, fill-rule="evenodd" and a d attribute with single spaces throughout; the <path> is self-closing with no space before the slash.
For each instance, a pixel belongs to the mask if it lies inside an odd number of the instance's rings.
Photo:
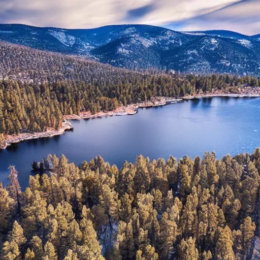
<path id="1" fill-rule="evenodd" d="M 26 133 L 26 134 L 19 134 L 17 136 L 8 136 L 7 139 L 5 140 L 5 146 L 2 147 L 2 149 L 7 148 L 11 144 L 19 143 L 25 140 L 63 135 L 66 131 L 70 131 L 71 129 L 73 129 L 73 125 L 70 122 L 66 121 L 62 123 L 62 127 L 59 128 L 58 130 L 48 129 L 46 132 L 32 133 L 32 134 Z"/>

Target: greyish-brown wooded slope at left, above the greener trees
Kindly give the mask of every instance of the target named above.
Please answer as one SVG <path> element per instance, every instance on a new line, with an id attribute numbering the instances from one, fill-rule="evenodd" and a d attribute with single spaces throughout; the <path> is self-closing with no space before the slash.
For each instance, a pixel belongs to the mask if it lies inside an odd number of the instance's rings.
<path id="1" fill-rule="evenodd" d="M 34 83 L 60 79 L 116 84 L 125 78 L 133 81 L 142 77 L 139 73 L 88 59 L 39 51 L 2 41 L 0 54 L 0 79 Z"/>

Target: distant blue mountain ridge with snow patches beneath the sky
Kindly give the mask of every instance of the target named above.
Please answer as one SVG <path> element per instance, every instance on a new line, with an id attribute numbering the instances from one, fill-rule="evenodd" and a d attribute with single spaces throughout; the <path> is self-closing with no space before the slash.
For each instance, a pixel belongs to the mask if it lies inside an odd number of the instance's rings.
<path id="1" fill-rule="evenodd" d="M 0 40 L 126 69 L 260 74 L 260 35 L 226 30 L 178 32 L 136 24 L 94 29 L 0 24 Z"/>

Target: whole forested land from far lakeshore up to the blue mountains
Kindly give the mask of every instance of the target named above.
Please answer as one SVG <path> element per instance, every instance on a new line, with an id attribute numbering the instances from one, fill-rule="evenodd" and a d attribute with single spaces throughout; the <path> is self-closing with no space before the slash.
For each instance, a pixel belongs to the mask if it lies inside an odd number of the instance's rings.
<path id="1" fill-rule="evenodd" d="M 149 74 L 99 62 L 0 43 L 1 134 L 58 129 L 62 115 L 113 110 L 155 96 L 259 86 L 255 77 Z"/>

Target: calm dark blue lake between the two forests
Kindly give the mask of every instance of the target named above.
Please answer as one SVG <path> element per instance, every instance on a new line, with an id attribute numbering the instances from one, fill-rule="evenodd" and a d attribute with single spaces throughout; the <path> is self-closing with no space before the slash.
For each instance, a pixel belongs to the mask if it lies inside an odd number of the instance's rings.
<path id="1" fill-rule="evenodd" d="M 120 167 L 134 163 L 137 155 L 150 159 L 203 156 L 217 158 L 230 153 L 252 153 L 260 146 L 260 98 L 214 97 L 182 101 L 174 105 L 139 109 L 136 115 L 71 121 L 74 131 L 52 138 L 13 144 L 0 150 L 0 181 L 6 184 L 10 165 L 19 182 L 28 184 L 33 160 L 62 153 L 77 166 L 101 155 Z"/>

